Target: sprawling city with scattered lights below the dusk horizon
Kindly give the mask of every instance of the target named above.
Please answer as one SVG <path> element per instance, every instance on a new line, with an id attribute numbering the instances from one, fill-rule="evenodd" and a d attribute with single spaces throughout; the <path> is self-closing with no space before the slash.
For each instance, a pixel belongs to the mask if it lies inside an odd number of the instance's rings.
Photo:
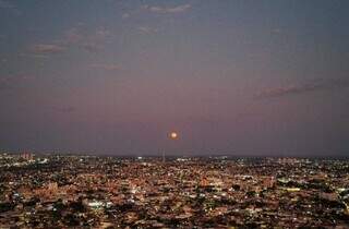
<path id="1" fill-rule="evenodd" d="M 0 228 L 348 228 L 349 160 L 1 154 Z"/>

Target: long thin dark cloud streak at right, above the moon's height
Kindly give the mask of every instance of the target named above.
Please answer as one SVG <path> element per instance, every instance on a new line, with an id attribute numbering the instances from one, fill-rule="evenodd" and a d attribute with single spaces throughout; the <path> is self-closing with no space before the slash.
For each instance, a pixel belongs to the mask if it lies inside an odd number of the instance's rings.
<path id="1" fill-rule="evenodd" d="M 276 98 L 289 95 L 299 95 L 317 91 L 335 91 L 339 88 L 349 87 L 349 79 L 332 79 L 321 80 L 314 82 L 308 82 L 300 85 L 288 85 L 276 88 L 264 89 L 256 95 L 254 98 Z"/>

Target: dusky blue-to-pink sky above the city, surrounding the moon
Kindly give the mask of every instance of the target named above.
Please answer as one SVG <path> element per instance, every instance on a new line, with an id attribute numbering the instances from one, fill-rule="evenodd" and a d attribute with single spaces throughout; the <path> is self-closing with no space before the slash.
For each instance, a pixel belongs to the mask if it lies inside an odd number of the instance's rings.
<path id="1" fill-rule="evenodd" d="M 0 150 L 348 156 L 348 9 L 0 0 Z"/>

